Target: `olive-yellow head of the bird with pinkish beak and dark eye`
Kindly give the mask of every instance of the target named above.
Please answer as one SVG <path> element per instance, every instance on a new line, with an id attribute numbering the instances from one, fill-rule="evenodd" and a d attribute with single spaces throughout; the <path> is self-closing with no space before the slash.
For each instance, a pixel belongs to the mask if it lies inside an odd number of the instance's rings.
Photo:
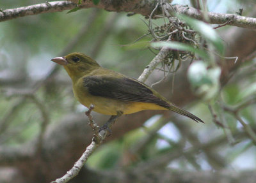
<path id="1" fill-rule="evenodd" d="M 100 67 L 91 57 L 78 52 L 68 54 L 65 57 L 56 57 L 51 59 L 51 61 L 64 66 L 72 79 L 82 77 Z"/>

